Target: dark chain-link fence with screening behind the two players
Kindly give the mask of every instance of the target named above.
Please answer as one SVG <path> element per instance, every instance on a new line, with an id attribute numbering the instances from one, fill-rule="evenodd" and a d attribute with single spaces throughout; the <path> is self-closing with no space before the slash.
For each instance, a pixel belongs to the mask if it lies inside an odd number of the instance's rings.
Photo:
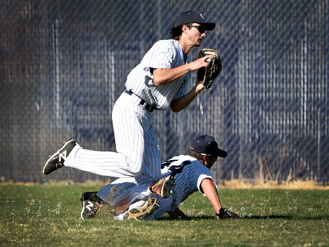
<path id="1" fill-rule="evenodd" d="M 193 9 L 217 24 L 202 47 L 220 51 L 223 71 L 187 109 L 154 113 L 162 160 L 209 134 L 228 152 L 217 181 L 327 183 L 328 2 L 0 0 L 0 179 L 107 180 L 42 168 L 70 137 L 115 151 L 111 113 L 127 74 Z"/>

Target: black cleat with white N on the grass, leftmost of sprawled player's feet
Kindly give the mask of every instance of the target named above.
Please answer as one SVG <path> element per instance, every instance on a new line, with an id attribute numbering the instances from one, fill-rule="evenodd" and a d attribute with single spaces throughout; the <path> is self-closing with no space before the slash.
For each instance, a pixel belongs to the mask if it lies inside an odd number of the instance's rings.
<path id="1" fill-rule="evenodd" d="M 103 205 L 103 201 L 97 196 L 96 192 L 85 192 L 80 199 L 82 201 L 81 219 L 94 218 L 96 212 Z"/>

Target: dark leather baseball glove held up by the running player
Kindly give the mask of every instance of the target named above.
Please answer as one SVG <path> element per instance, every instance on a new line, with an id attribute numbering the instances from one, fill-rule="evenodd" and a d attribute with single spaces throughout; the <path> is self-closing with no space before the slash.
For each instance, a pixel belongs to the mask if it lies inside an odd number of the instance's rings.
<path id="1" fill-rule="evenodd" d="M 212 82 L 222 71 L 222 61 L 217 50 L 204 48 L 197 51 L 197 59 L 203 58 L 206 55 L 214 56 L 206 59 L 208 66 L 205 69 L 197 70 L 197 79 L 199 79 L 206 89 L 210 89 Z"/>

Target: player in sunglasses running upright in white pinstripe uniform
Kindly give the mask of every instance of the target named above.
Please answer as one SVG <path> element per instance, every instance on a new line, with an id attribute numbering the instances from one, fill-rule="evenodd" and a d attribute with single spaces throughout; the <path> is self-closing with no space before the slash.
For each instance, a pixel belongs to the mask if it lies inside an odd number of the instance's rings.
<path id="1" fill-rule="evenodd" d="M 191 63 L 187 55 L 193 47 L 200 46 L 205 30 L 214 28 L 215 23 L 206 22 L 198 12 L 181 13 L 171 29 L 172 39 L 156 42 L 127 76 L 126 90 L 112 113 L 117 152 L 86 150 L 70 139 L 50 156 L 43 173 L 67 166 L 122 178 L 126 186 L 159 180 L 161 157 L 152 112 L 169 107 L 178 112 L 204 89 L 197 80 L 196 86 L 186 93 L 190 72 L 205 68 L 205 60 L 211 55 Z M 167 182 L 173 183 L 172 179 Z"/>

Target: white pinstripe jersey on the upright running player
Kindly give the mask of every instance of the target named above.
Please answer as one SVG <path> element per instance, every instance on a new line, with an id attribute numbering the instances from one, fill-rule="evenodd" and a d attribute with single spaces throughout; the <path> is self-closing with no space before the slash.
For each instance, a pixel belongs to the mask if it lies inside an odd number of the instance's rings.
<path id="1" fill-rule="evenodd" d="M 156 104 L 157 110 L 167 110 L 173 99 L 185 95 L 191 73 L 172 83 L 155 86 L 151 68 L 169 69 L 186 63 L 189 63 L 189 60 L 178 41 L 158 41 L 144 55 L 141 63 L 129 73 L 125 83 L 126 89 L 134 92 L 147 103 Z"/>

